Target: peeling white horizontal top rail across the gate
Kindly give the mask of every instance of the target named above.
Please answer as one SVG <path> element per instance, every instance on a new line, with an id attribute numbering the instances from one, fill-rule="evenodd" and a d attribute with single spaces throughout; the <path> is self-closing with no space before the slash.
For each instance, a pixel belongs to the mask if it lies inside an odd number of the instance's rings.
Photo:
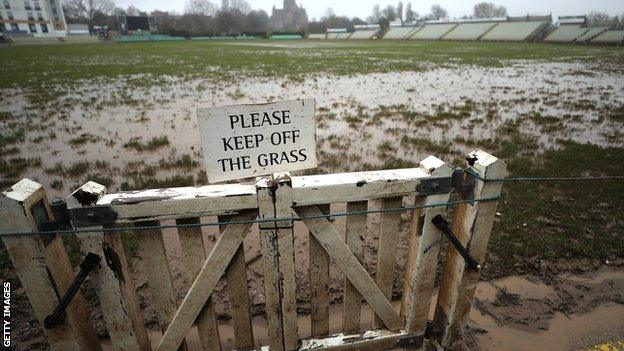
<path id="1" fill-rule="evenodd" d="M 292 177 L 297 206 L 365 201 L 370 198 L 417 194 L 429 174 L 419 168 Z M 98 205 L 110 206 L 120 222 L 232 214 L 257 208 L 253 185 L 149 189 L 107 194 Z"/>

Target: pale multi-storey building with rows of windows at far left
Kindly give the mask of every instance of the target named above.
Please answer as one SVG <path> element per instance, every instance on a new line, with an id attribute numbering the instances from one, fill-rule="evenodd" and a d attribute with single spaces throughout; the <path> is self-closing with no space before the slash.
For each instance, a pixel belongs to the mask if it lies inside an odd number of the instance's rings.
<path id="1" fill-rule="evenodd" d="M 0 0 L 0 33 L 64 36 L 67 24 L 60 0 Z"/>

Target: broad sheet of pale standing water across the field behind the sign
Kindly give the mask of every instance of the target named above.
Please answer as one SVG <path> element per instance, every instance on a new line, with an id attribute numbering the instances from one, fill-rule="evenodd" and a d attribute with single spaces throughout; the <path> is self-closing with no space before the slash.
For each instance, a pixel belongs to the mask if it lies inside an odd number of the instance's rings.
<path id="1" fill-rule="evenodd" d="M 131 162 L 142 161 L 146 166 L 155 166 L 154 177 L 164 179 L 179 174 L 180 169 L 159 167 L 161 159 L 189 155 L 197 165 L 184 172 L 197 175 L 202 169 L 197 108 L 279 99 L 313 97 L 317 108 L 327 111 L 318 113 L 318 147 L 323 155 L 321 172 L 354 171 L 363 164 L 383 164 L 388 156 L 380 153 L 379 146 L 383 143 L 392 146 L 390 156 L 410 162 L 418 162 L 432 153 L 419 145 L 401 145 L 404 136 L 450 145 L 448 152 L 464 154 L 473 147 L 456 142 L 457 138 L 492 138 L 499 133 L 498 128 L 509 121 L 521 121 L 520 131 L 536 138 L 541 150 L 556 147 L 558 139 L 602 146 L 624 145 L 622 124 L 611 122 L 600 112 L 605 106 L 624 104 L 624 79 L 600 70 L 591 76 L 573 74 L 585 68 L 575 63 L 540 62 L 516 63 L 503 68 L 450 65 L 431 67 L 423 72 L 347 77 L 320 74 L 303 82 L 282 78 L 212 82 L 159 77 L 153 86 L 139 87 L 123 79 L 102 79 L 79 82 L 71 91 L 52 87 L 60 92 L 57 102 L 62 108 L 52 106 L 41 113 L 30 110 L 32 106 L 24 98 L 28 92 L 7 89 L 6 94 L 11 98 L 5 100 L 9 103 L 0 106 L 0 111 L 12 111 L 18 120 L 28 123 L 39 123 L 39 119 L 41 124 L 54 121 L 53 139 L 47 137 L 51 129 L 44 128 L 29 133 L 19 147 L 23 157 L 41 158 L 41 167 L 29 169 L 28 176 L 45 185 L 54 180 L 62 181 L 65 190 L 53 193 L 63 195 L 80 181 L 44 171 L 57 163 L 107 162 L 107 170 L 91 172 L 110 174 L 113 185 L 109 191 L 120 188 L 127 180 L 127 166 Z M 467 101 L 474 107 L 462 118 L 415 124 L 414 119 L 404 116 L 406 113 L 435 115 L 440 106 L 456 108 Z M 575 107 L 579 101 L 591 108 L 579 110 Z M 400 111 L 380 118 L 379 123 L 369 124 L 371 116 L 379 113 L 380 106 L 393 106 Z M 490 110 L 495 111 L 491 118 L 487 117 Z M 545 131 L 544 126 L 529 120 L 528 116 L 537 112 L 542 116 L 565 118 L 565 126 Z M 349 118 L 354 116 L 361 121 L 350 125 Z M 0 123 L 0 131 L 4 128 L 7 125 Z M 71 145 L 72 139 L 81 134 L 92 136 L 93 140 Z M 124 147 L 135 137 L 145 143 L 160 136 L 167 136 L 169 145 L 153 152 Z"/>

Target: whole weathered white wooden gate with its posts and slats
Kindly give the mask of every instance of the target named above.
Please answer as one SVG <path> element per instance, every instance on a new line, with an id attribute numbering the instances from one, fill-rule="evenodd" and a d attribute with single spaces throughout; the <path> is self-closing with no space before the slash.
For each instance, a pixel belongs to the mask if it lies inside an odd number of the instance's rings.
<path id="1" fill-rule="evenodd" d="M 468 254 L 483 262 L 502 186 L 487 180 L 506 176 L 505 164 L 481 150 L 471 153 L 469 170 L 458 179 L 449 165 L 430 156 L 419 168 L 300 177 L 280 173 L 259 178 L 255 185 L 106 194 L 104 186 L 88 182 L 67 198 L 65 212 L 58 210 L 59 203 L 49 204 L 42 185 L 24 179 L 0 198 L 0 232 L 24 232 L 2 238 L 42 325 L 74 277 L 60 234 L 76 232 L 81 253 L 102 258 L 89 278 L 116 350 L 152 349 L 121 241 L 122 232 L 129 231 L 124 224 L 133 226 L 131 235 L 138 240 L 163 333 L 160 340 L 152 340 L 156 350 L 187 349 L 185 338 L 194 325 L 202 349 L 221 349 L 211 294 L 222 277 L 239 350 L 263 346 L 271 350 L 418 349 L 425 339 L 454 348 L 461 341 L 479 271 L 470 269 L 462 253 L 449 245 L 435 317 L 429 322 L 442 235 L 432 220 L 446 213 L 451 193 L 461 190 L 466 200 L 456 202 L 453 232 Z M 415 196 L 414 206 L 403 205 L 406 196 Z M 379 209 L 369 208 L 368 201 L 374 199 L 380 199 Z M 335 203 L 346 203 L 346 212 L 330 213 L 329 204 Z M 367 214 L 375 212 L 381 220 L 372 275 L 362 257 Z M 405 253 L 396 250 L 402 212 L 412 213 Z M 338 215 L 346 217 L 344 240 L 330 221 Z M 71 216 L 69 230 L 58 225 L 67 222 L 65 216 Z M 207 216 L 218 216 L 218 221 L 202 222 Z M 179 306 L 160 224 L 171 219 L 176 221 L 182 247 L 180 270 L 194 281 Z M 305 223 L 310 233 L 311 338 L 306 339 L 299 336 L 297 323 L 294 221 Z M 255 224 L 264 268 L 269 345 L 254 341 L 241 245 Z M 201 229 L 206 225 L 218 225 L 221 232 L 207 256 Z M 391 302 L 399 254 L 406 255 L 407 264 L 397 311 Z M 329 335 L 330 259 L 345 277 L 342 333 L 334 335 Z M 364 331 L 360 329 L 362 302 L 374 312 L 372 325 Z M 80 293 L 66 315 L 60 324 L 44 328 L 52 348 L 100 350 Z"/>

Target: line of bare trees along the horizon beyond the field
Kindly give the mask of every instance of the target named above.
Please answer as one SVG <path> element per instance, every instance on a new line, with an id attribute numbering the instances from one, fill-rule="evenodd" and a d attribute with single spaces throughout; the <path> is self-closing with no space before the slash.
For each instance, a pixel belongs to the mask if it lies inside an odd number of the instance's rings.
<path id="1" fill-rule="evenodd" d="M 90 26 L 108 25 L 117 29 L 117 16 L 147 16 L 155 18 L 159 32 L 170 35 L 240 35 L 245 33 L 263 33 L 271 30 L 269 15 L 263 10 L 254 10 L 246 0 L 222 0 L 220 6 L 210 0 L 187 0 L 183 13 L 152 11 L 150 14 L 134 6 L 126 9 L 117 7 L 113 0 L 64 0 L 63 9 L 68 23 L 87 23 Z M 419 14 L 412 9 L 412 3 L 399 1 L 397 5 L 381 7 L 375 5 L 365 19 L 338 16 L 328 8 L 318 20 L 308 23 L 308 32 L 323 33 L 327 28 L 347 28 L 352 31 L 355 25 L 378 24 L 382 28 L 391 22 L 414 23 L 424 20 L 448 18 L 448 11 L 433 5 L 426 14 Z M 492 2 L 480 2 L 473 6 L 473 12 L 462 19 L 494 18 L 507 16 L 504 6 Z M 590 24 L 598 21 L 613 20 L 606 13 L 590 12 Z M 615 17 L 617 20 L 617 17 Z M 624 22 L 624 14 L 620 16 Z"/>

